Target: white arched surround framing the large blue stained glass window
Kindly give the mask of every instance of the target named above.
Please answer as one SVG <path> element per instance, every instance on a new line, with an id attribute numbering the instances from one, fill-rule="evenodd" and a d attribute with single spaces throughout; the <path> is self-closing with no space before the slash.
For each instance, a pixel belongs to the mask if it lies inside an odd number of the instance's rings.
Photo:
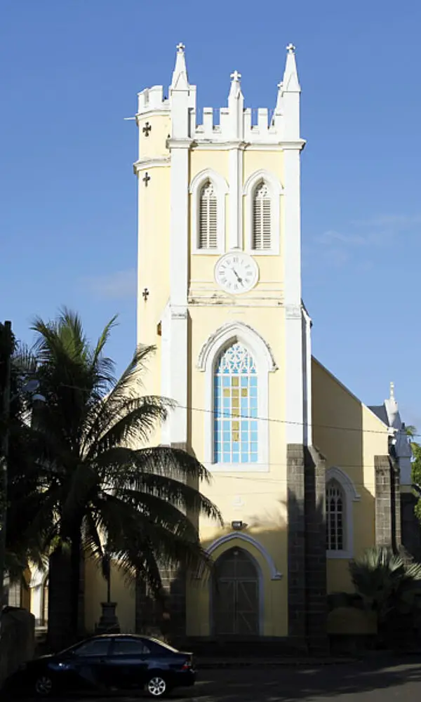
<path id="1" fill-rule="evenodd" d="M 246 347 L 255 361 L 258 376 L 258 463 L 214 463 L 213 450 L 213 378 L 219 355 L 233 343 Z M 201 347 L 197 361 L 205 373 L 204 463 L 213 472 L 267 472 L 269 470 L 269 373 L 278 369 L 269 344 L 260 334 L 243 322 L 227 322 L 211 334 Z"/>

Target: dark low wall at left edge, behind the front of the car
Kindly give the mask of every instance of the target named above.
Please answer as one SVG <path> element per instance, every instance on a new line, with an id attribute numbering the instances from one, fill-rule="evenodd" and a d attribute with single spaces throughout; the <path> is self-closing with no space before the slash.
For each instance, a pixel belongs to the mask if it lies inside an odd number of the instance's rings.
<path id="1" fill-rule="evenodd" d="M 0 685 L 21 663 L 34 657 L 35 618 L 26 609 L 6 608 L 0 615 Z"/>

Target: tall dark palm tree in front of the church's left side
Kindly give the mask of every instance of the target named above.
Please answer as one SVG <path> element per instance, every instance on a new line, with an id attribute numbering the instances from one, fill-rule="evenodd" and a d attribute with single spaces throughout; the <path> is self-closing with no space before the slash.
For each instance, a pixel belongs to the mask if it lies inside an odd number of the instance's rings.
<path id="1" fill-rule="evenodd" d="M 188 514 L 221 520 L 218 508 L 199 491 L 208 472 L 189 453 L 150 446 L 156 426 L 173 409 L 162 397 L 142 395 L 142 374 L 154 352 L 139 347 L 119 380 L 104 355 L 113 318 L 92 347 L 81 319 L 64 309 L 55 322 L 35 319 L 33 353 L 39 392 L 45 402 L 36 418 L 43 506 L 34 529 L 50 520 L 46 542 L 54 546 L 49 580 L 63 588 L 60 621 L 76 637 L 81 554 L 104 559 L 107 550 L 128 576 L 140 576 L 161 592 L 160 568 L 206 560 Z M 64 602 L 63 561 L 69 561 L 71 602 Z M 55 571 L 55 573 L 54 573 Z M 58 593 L 56 593 L 57 596 Z M 79 613 L 80 614 L 80 613 Z M 50 615 L 54 616 L 53 611 Z M 61 643 L 61 642 L 60 642 Z"/>

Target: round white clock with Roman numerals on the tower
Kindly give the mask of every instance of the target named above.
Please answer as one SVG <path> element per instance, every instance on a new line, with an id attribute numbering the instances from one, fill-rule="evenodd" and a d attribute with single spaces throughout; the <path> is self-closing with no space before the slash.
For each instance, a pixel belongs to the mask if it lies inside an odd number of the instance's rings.
<path id="1" fill-rule="evenodd" d="M 215 281 L 227 293 L 246 293 L 255 286 L 258 279 L 258 264 L 248 253 L 231 251 L 216 262 Z"/>

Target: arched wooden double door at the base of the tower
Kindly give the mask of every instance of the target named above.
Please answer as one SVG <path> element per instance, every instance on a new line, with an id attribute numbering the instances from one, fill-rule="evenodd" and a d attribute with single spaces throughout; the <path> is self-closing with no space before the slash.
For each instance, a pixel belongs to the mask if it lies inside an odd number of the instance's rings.
<path id="1" fill-rule="evenodd" d="M 260 633 L 259 574 L 242 548 L 230 548 L 215 563 L 213 630 L 217 636 L 258 636 Z"/>

